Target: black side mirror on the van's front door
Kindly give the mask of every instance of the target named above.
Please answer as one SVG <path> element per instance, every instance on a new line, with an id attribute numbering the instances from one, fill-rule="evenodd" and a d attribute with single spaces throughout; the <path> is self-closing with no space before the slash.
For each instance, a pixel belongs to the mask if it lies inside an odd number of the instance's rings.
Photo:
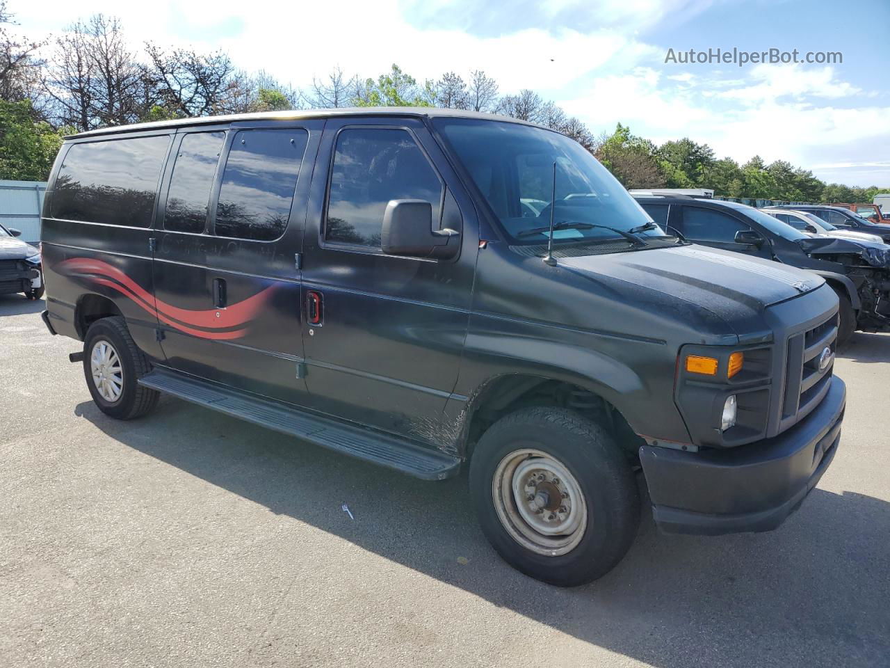
<path id="1" fill-rule="evenodd" d="M 433 230 L 433 205 L 428 201 L 390 200 L 380 242 L 389 255 L 447 259 L 457 255 L 460 232 Z"/>

